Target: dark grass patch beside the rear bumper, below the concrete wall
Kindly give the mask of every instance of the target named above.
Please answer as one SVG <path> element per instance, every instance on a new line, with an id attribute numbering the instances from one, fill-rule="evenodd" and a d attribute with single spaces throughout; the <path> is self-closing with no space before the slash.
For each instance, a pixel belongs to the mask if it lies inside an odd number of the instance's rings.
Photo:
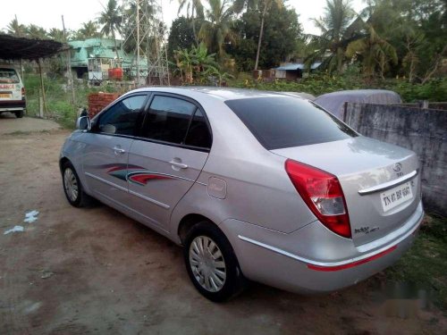
<path id="1" fill-rule="evenodd" d="M 426 216 L 414 245 L 385 275 L 433 290 L 434 304 L 447 310 L 447 218 Z"/>

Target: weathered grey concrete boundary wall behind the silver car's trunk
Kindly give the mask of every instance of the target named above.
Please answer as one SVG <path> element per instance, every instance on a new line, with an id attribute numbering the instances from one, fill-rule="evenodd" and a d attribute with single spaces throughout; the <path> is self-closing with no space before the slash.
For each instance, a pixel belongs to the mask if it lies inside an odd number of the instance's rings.
<path id="1" fill-rule="evenodd" d="M 447 216 L 447 111 L 346 103 L 343 120 L 364 136 L 416 152 L 426 210 Z"/>

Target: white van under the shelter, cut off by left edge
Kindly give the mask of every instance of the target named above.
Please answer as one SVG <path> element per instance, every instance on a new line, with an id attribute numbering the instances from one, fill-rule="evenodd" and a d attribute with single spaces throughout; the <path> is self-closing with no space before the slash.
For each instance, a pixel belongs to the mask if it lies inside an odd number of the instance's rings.
<path id="1" fill-rule="evenodd" d="M 11 112 L 23 117 L 26 110 L 25 87 L 12 66 L 0 65 L 0 113 Z"/>

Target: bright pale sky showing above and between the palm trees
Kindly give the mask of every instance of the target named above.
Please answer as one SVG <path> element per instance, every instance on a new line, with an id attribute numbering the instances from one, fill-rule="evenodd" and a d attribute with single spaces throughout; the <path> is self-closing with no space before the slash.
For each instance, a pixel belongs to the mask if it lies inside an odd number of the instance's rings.
<path id="1" fill-rule="evenodd" d="M 128 0 L 129 1 L 129 0 Z M 163 6 L 164 22 L 171 26 L 177 17 L 178 0 L 157 0 Z M 5 29 L 14 15 L 21 24 L 36 24 L 45 29 L 62 29 L 62 18 L 66 29 L 79 29 L 83 22 L 97 19 L 107 0 L 0 0 L 0 29 Z M 320 17 L 325 7 L 325 0 L 288 0 L 289 7 L 299 13 L 299 22 L 304 32 L 317 34 L 311 18 Z M 354 10 L 365 7 L 362 0 L 352 1 Z"/>

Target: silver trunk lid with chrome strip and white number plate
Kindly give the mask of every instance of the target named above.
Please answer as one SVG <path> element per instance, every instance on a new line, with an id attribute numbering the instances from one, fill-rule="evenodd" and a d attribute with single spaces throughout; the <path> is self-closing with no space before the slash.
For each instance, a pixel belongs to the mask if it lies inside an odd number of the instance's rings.
<path id="1" fill-rule="evenodd" d="M 407 149 L 359 136 L 272 152 L 340 180 L 355 245 L 398 229 L 419 203 L 417 156 Z"/>

